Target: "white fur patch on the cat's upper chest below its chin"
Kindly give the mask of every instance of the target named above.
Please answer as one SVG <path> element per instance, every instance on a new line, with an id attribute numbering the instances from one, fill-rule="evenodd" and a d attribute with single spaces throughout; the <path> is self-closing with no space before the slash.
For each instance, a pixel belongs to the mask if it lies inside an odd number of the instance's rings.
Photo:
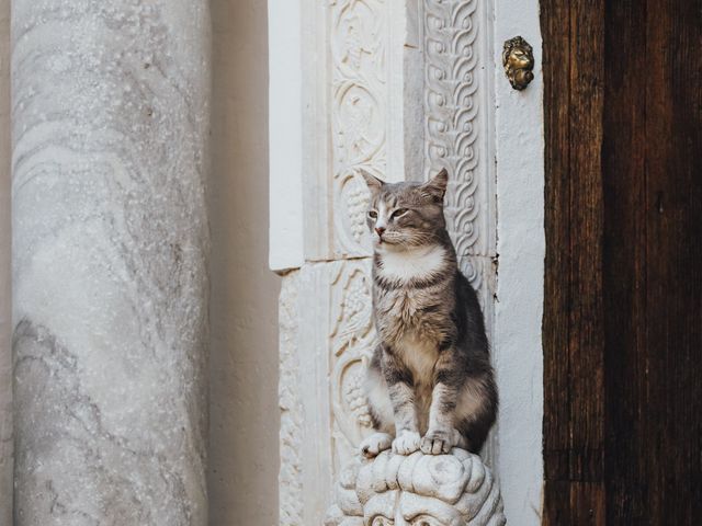
<path id="1" fill-rule="evenodd" d="M 418 248 L 407 251 L 384 251 L 378 275 L 385 279 L 408 282 L 435 275 L 444 266 L 443 247 Z"/>

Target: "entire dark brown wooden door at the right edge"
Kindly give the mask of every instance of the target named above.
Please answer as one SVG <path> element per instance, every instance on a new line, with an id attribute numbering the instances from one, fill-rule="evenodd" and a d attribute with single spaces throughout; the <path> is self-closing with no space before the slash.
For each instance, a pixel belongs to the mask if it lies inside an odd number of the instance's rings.
<path id="1" fill-rule="evenodd" d="M 702 524 L 702 2 L 542 0 L 544 524 Z"/>

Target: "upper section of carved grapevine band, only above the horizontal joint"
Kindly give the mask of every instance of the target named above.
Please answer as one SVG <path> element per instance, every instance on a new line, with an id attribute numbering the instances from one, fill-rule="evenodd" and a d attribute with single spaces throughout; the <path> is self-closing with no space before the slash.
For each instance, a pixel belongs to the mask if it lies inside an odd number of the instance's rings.
<path id="1" fill-rule="evenodd" d="M 385 172 L 386 11 L 383 0 L 330 3 L 335 252 L 342 256 L 371 253 L 369 194 L 356 172 Z"/>

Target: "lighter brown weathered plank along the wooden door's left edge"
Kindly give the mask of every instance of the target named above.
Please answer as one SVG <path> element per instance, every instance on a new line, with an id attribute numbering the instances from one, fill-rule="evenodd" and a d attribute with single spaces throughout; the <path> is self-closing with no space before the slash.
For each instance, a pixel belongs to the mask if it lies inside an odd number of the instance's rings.
<path id="1" fill-rule="evenodd" d="M 603 2 L 542 2 L 546 134 L 544 524 L 604 513 Z"/>

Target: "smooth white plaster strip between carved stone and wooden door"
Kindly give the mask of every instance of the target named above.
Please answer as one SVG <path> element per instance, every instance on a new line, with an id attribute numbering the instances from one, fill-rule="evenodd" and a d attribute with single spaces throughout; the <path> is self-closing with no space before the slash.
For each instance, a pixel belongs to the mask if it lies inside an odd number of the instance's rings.
<path id="1" fill-rule="evenodd" d="M 495 1 L 496 158 L 499 267 L 495 320 L 500 389 L 498 472 L 510 525 L 541 524 L 543 483 L 544 161 L 537 0 Z M 502 43 L 534 48 L 534 80 L 513 90 Z"/>

